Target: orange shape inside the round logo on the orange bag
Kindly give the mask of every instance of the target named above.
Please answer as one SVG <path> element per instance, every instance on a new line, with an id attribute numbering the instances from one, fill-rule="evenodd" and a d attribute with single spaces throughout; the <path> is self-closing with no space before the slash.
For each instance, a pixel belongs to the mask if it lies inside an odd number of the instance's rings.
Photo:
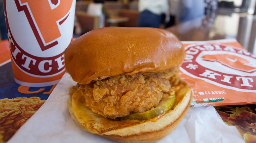
<path id="1" fill-rule="evenodd" d="M 239 69 L 241 71 L 253 71 L 256 70 L 256 64 L 249 62 L 248 60 L 229 54 L 218 54 L 218 55 L 204 55 L 202 58 L 217 61 L 222 63 L 225 66 Z"/>

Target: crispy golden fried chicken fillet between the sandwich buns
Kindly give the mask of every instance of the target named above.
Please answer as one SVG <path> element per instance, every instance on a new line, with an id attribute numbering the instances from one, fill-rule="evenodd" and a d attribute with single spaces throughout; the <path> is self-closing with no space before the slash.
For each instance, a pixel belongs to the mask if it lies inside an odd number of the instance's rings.
<path id="1" fill-rule="evenodd" d="M 179 82 L 179 68 L 156 73 L 117 75 L 88 85 L 81 85 L 84 104 L 108 118 L 123 117 L 130 112 L 145 112 L 160 100 L 174 94 Z"/>

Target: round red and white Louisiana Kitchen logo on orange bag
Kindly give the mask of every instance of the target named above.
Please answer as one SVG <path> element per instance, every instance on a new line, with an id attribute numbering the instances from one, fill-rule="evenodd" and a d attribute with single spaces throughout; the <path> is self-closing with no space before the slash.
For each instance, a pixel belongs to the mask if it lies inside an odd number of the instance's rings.
<path id="1" fill-rule="evenodd" d="M 244 49 L 224 44 L 188 45 L 181 71 L 215 86 L 256 92 L 256 56 Z"/>

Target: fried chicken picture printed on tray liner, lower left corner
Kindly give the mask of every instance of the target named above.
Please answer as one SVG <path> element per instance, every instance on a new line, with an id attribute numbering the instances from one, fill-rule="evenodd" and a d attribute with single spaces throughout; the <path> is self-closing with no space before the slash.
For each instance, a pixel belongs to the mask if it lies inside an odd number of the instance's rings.
<path id="1" fill-rule="evenodd" d="M 0 143 L 7 142 L 45 103 L 39 97 L 0 100 Z"/>

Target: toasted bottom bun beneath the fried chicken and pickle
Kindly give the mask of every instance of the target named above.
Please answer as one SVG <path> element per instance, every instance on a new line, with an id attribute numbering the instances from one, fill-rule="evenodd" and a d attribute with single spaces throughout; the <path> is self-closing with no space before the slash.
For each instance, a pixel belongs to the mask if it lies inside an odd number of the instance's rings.
<path id="1" fill-rule="evenodd" d="M 70 89 L 68 108 L 72 118 L 84 130 L 117 142 L 156 142 L 174 130 L 187 113 L 192 99 L 191 88 L 181 81 L 174 106 L 166 113 L 150 120 L 111 120 L 91 111 L 84 105 L 81 91 Z"/>

